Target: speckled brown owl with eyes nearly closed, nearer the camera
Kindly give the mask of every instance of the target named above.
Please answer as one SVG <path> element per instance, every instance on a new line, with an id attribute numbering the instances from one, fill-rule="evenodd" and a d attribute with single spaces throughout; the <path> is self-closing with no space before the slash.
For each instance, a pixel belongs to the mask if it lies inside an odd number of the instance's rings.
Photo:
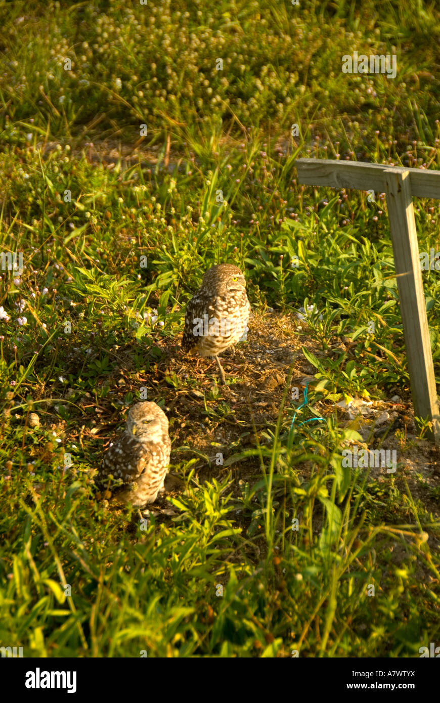
<path id="1" fill-rule="evenodd" d="M 97 484 L 106 488 L 110 474 L 122 479 L 115 498 L 143 508 L 156 500 L 164 485 L 170 453 L 167 415 L 155 403 L 136 403 L 130 408 L 124 434 L 104 455 Z"/>

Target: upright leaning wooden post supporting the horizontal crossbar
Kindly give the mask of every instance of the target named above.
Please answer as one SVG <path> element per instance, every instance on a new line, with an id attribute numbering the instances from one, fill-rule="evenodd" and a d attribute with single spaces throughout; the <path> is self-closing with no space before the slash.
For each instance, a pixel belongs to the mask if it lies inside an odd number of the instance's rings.
<path id="1" fill-rule="evenodd" d="M 410 172 L 387 168 L 384 174 L 414 414 L 420 418 L 432 418 L 432 436 L 439 444 L 439 403 L 423 295 Z"/>

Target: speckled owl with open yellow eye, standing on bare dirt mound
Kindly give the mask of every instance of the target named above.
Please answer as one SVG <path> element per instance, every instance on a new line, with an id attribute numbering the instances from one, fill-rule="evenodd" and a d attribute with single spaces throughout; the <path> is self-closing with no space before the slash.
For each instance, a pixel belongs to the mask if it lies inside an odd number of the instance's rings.
<path id="1" fill-rule="evenodd" d="M 226 385 L 218 355 L 242 339 L 249 314 L 246 281 L 238 266 L 212 266 L 186 307 L 183 351 L 214 356 L 221 382 Z"/>

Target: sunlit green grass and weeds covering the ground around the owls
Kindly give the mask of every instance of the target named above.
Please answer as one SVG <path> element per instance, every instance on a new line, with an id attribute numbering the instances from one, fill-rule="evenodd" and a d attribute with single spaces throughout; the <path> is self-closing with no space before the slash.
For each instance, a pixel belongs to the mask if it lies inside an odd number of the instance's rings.
<path id="1" fill-rule="evenodd" d="M 0 3 L 0 251 L 25 264 L 0 282 L 0 645 L 418 657 L 439 640 L 425 430 L 396 433 L 396 474 L 342 465 L 362 437 L 337 402 L 410 401 L 386 203 L 295 180 L 301 156 L 439 168 L 435 4 L 357 5 Z M 396 79 L 342 74 L 353 51 L 396 53 Z M 438 203 L 418 199 L 415 218 L 420 251 L 440 249 Z M 242 355 L 258 325 L 298 340 L 264 411 L 248 401 L 265 392 L 257 372 L 224 390 L 173 351 L 203 272 L 226 261 L 257 314 Z M 423 281 L 440 382 L 438 272 Z M 146 524 L 93 485 L 142 387 L 166 408 L 184 482 Z M 325 420 L 299 424 L 313 412 Z"/>

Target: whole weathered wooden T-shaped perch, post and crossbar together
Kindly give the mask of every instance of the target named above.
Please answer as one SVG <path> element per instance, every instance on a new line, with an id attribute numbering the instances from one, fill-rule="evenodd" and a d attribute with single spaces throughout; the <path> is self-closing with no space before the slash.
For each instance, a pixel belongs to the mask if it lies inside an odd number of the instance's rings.
<path id="1" fill-rule="evenodd" d="M 328 159 L 297 159 L 295 165 L 299 183 L 307 186 L 387 193 L 414 413 L 431 421 L 430 434 L 440 445 L 439 401 L 412 202 L 413 196 L 440 200 L 440 171 Z"/>

